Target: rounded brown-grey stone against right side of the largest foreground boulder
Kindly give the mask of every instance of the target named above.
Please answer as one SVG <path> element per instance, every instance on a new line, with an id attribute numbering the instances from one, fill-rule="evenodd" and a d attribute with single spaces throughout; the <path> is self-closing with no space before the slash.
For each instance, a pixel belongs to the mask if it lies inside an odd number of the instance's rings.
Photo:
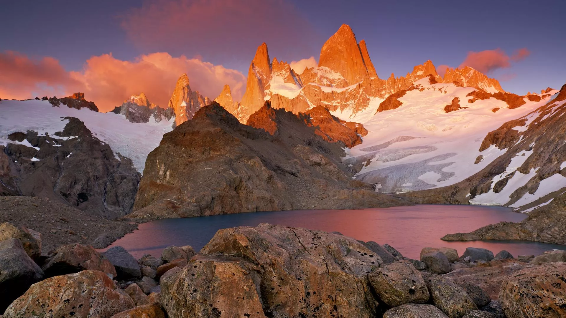
<path id="1" fill-rule="evenodd" d="M 408 260 L 385 264 L 369 278 L 379 299 L 388 306 L 426 303 L 428 300 L 428 289 L 421 273 Z"/>

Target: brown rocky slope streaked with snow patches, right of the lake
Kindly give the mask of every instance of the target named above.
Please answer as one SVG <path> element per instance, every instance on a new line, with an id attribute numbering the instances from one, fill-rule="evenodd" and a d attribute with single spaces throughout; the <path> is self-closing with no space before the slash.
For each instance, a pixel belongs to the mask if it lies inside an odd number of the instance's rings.
<path id="1" fill-rule="evenodd" d="M 405 197 L 423 203 L 505 205 L 524 212 L 551 203 L 566 190 L 565 112 L 566 85 L 545 105 L 483 138 L 480 152 L 500 153 L 484 169 L 452 186 Z"/>

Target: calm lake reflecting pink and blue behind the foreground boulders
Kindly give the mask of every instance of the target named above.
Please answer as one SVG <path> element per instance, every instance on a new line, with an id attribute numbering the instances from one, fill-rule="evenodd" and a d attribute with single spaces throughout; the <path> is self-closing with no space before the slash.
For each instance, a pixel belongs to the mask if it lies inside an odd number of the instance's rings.
<path id="1" fill-rule="evenodd" d="M 217 230 L 260 223 L 338 231 L 358 240 L 389 244 L 404 256 L 419 259 L 423 247 L 452 247 L 461 255 L 466 247 L 487 248 L 495 253 L 507 250 L 513 256 L 538 255 L 566 246 L 525 241 L 485 240 L 444 242 L 445 234 L 469 232 L 501 221 L 520 222 L 525 214 L 509 208 L 478 205 L 423 204 L 413 207 L 355 210 L 289 210 L 250 212 L 191 218 L 170 218 L 139 225 L 112 246 L 123 246 L 136 258 L 144 253 L 159 257 L 169 245 L 190 245 L 199 251 Z"/>

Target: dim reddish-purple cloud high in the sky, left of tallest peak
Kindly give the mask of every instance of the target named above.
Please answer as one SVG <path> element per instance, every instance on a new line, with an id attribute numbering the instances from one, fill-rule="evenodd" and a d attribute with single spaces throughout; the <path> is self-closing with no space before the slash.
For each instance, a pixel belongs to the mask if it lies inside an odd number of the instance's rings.
<path id="1" fill-rule="evenodd" d="M 143 51 L 199 55 L 246 69 L 262 42 L 285 61 L 310 54 L 316 37 L 284 0 L 145 0 L 121 18 L 127 36 Z"/>

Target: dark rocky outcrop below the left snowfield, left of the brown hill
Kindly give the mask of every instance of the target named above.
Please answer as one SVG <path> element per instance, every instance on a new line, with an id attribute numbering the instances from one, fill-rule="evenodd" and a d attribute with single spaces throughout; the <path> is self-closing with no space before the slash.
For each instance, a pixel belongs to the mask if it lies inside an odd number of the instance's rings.
<path id="1" fill-rule="evenodd" d="M 63 120 L 68 123 L 54 135 L 18 132 L 9 138 L 19 143 L 0 146 L 0 165 L 7 166 L 0 187 L 11 189 L 2 192 L 48 197 L 106 218 L 131 212 L 140 179 L 132 161 L 114 154 L 79 119 Z"/>

